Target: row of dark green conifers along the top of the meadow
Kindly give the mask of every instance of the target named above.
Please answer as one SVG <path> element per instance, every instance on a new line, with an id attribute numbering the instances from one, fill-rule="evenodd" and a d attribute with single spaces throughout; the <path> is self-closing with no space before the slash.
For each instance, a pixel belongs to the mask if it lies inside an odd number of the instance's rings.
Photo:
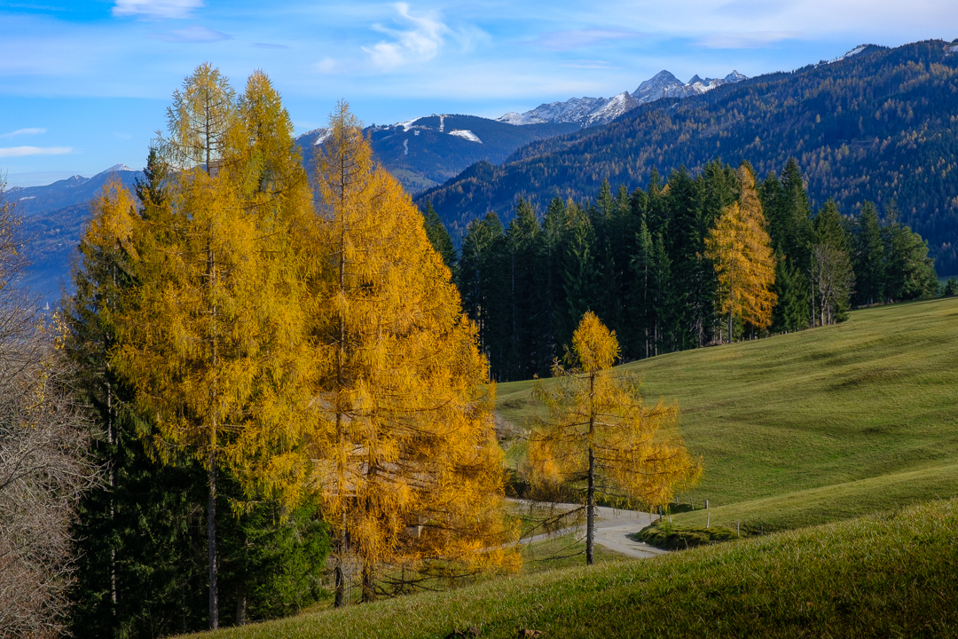
<path id="1" fill-rule="evenodd" d="M 757 184 L 747 165 L 736 171 L 717 160 L 667 180 L 653 171 L 647 190 L 613 191 L 604 181 L 594 198 L 555 198 L 542 212 L 520 196 L 508 225 L 494 213 L 468 225 L 458 262 L 438 215 L 427 209 L 426 219 L 457 274 L 492 377 L 525 379 L 549 374 L 586 310 L 616 331 L 624 360 L 728 341 L 730 293 L 716 268 L 722 258 L 707 243 L 723 212 L 744 208 L 749 194 L 761 207 L 755 230 L 773 256 L 757 285 L 774 301 L 767 317 L 732 313 L 733 339 L 832 324 L 852 305 L 935 294 L 927 246 L 893 205 L 879 213 L 866 202 L 852 217 L 828 200 L 816 211 L 794 160 Z"/>

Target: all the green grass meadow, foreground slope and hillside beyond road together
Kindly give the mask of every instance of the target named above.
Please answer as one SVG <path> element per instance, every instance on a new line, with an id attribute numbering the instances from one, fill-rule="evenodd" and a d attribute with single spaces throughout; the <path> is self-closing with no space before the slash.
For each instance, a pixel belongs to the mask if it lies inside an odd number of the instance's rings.
<path id="1" fill-rule="evenodd" d="M 624 368 L 647 401 L 678 403 L 673 435 L 705 467 L 659 532 L 720 543 L 642 560 L 601 549 L 586 567 L 561 536 L 525 548 L 516 575 L 211 634 L 958 636 L 958 299 Z M 534 383 L 499 384 L 499 417 L 522 426 Z M 507 465 L 523 454 L 513 443 Z"/>

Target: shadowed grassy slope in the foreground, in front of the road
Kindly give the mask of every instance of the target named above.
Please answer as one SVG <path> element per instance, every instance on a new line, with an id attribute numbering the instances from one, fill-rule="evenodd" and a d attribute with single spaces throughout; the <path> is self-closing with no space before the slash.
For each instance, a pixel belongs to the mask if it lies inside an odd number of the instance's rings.
<path id="1" fill-rule="evenodd" d="M 958 628 L 958 502 L 229 628 L 236 639 L 934 637 Z M 464 634 L 456 635 L 456 630 Z M 522 635 L 520 635 L 522 636 Z M 527 635 L 528 636 L 528 635 Z"/>

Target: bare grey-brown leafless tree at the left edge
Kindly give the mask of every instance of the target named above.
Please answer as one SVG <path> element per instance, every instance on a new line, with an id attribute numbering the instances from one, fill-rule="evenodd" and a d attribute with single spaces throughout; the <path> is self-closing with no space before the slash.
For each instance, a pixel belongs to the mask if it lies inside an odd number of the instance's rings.
<path id="1" fill-rule="evenodd" d="M 48 637 L 67 605 L 70 522 L 98 473 L 65 360 L 16 287 L 17 225 L 0 182 L 0 637 Z"/>

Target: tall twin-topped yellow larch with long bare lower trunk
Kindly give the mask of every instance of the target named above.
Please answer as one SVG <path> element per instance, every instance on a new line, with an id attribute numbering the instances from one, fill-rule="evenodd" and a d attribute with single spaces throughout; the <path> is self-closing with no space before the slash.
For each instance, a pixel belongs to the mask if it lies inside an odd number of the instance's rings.
<path id="1" fill-rule="evenodd" d="M 118 371 L 155 416 L 154 450 L 208 472 L 210 626 L 218 626 L 217 474 L 294 501 L 307 476 L 295 393 L 306 370 L 293 227 L 308 210 L 292 127 L 268 79 L 239 103 L 207 64 L 174 95 L 170 171 L 131 235 L 137 285 L 118 318 Z"/>

